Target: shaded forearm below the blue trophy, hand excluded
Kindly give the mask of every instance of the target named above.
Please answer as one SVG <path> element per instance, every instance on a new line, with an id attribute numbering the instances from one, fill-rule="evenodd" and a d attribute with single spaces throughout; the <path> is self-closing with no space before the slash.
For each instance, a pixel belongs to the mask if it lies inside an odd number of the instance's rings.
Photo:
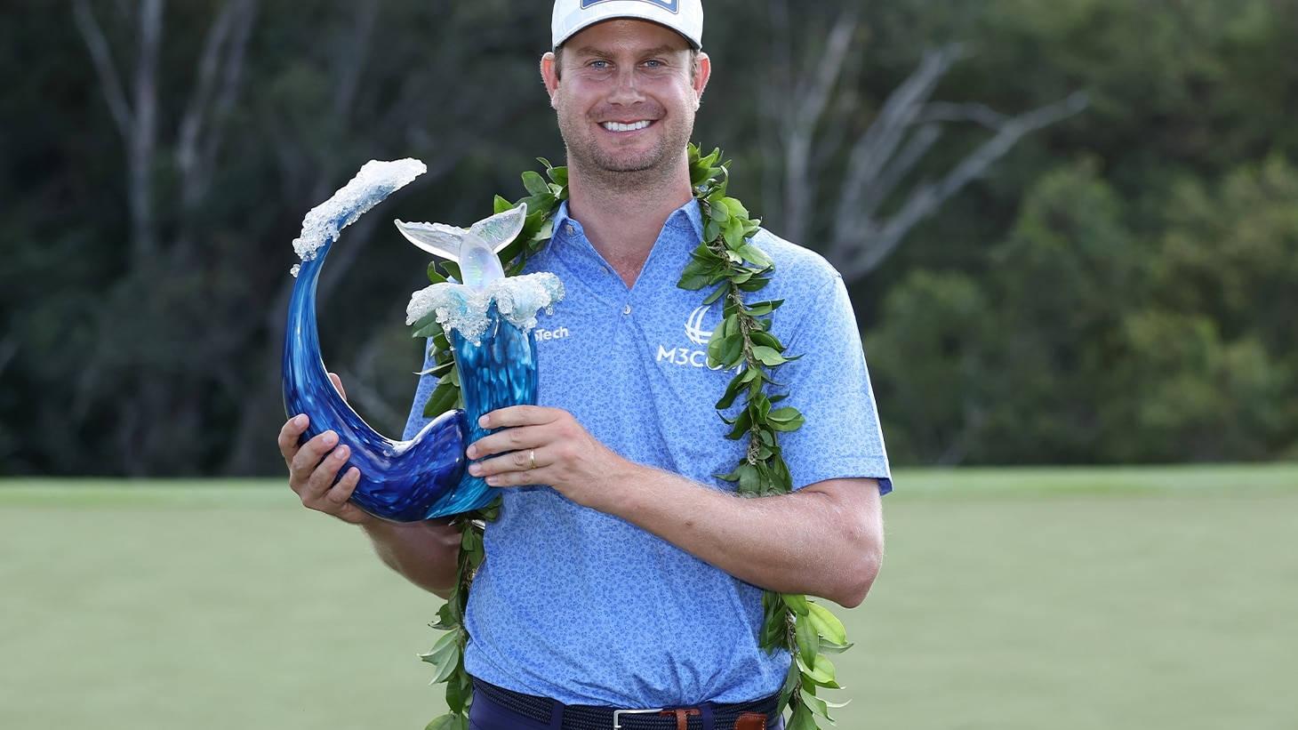
<path id="1" fill-rule="evenodd" d="M 450 595 L 459 556 L 458 525 L 449 520 L 397 523 L 375 518 L 361 527 L 384 565 L 426 591 Z"/>

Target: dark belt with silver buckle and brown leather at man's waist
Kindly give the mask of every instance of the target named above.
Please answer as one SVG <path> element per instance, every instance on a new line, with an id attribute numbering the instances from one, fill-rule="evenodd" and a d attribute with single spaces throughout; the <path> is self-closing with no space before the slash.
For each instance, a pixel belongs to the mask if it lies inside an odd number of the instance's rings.
<path id="1" fill-rule="evenodd" d="M 745 713 L 762 714 L 770 724 L 779 699 L 776 695 L 771 695 L 735 704 L 704 703 L 681 708 L 619 709 L 597 705 L 565 705 L 558 700 L 524 695 L 482 679 L 474 679 L 474 695 L 543 724 L 549 724 L 556 709 L 562 708 L 563 730 L 676 730 L 681 726 L 681 720 L 684 720 L 684 727 L 702 730 L 705 714 L 711 714 L 714 730 L 729 730 L 735 727 L 735 721 Z"/>

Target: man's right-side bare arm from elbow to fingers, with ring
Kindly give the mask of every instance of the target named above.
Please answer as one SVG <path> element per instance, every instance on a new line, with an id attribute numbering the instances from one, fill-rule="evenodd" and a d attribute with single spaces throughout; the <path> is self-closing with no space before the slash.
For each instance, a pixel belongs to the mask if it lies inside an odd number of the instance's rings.
<path id="1" fill-rule="evenodd" d="M 850 608 L 879 573 L 883 512 L 874 479 L 829 479 L 789 495 L 742 499 L 627 461 L 565 410 L 523 405 L 483 418 L 491 429 L 514 426 L 469 447 L 470 459 L 500 455 L 470 468 L 488 485 L 550 485 L 772 591 Z"/>

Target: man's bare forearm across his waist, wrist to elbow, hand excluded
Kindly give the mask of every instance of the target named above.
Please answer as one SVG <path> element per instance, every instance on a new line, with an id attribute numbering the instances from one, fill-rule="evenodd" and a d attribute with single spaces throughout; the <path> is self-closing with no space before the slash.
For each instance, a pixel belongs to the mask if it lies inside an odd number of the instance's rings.
<path id="1" fill-rule="evenodd" d="M 859 604 L 883 560 L 874 479 L 746 499 L 630 464 L 606 510 L 755 586 Z"/>

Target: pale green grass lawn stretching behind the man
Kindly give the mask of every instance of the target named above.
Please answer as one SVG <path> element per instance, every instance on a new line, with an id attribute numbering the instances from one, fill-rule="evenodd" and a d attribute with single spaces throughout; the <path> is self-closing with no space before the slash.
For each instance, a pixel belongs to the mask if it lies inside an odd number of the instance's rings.
<path id="1" fill-rule="evenodd" d="M 840 727 L 1289 729 L 1298 465 L 922 470 Z M 417 730 L 440 604 L 282 482 L 0 482 L 0 727 Z"/>

